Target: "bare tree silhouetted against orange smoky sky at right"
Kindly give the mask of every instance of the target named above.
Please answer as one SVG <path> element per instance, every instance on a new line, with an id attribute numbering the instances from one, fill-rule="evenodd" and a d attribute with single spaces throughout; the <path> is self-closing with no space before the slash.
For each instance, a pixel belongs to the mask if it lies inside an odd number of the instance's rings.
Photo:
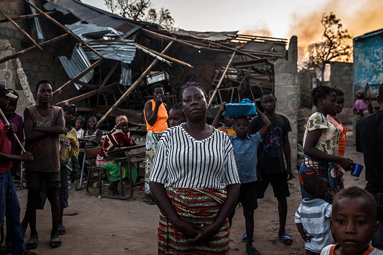
<path id="1" fill-rule="evenodd" d="M 324 31 L 322 41 L 310 44 L 308 51 L 310 53 L 307 62 L 308 68 L 317 68 L 321 72 L 321 79 L 324 81 L 324 71 L 326 63 L 329 61 L 343 60 L 352 61 L 351 36 L 347 29 L 343 29 L 341 19 L 336 15 L 323 13 L 321 18 Z"/>

